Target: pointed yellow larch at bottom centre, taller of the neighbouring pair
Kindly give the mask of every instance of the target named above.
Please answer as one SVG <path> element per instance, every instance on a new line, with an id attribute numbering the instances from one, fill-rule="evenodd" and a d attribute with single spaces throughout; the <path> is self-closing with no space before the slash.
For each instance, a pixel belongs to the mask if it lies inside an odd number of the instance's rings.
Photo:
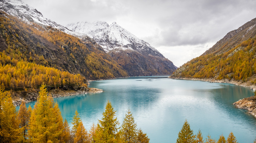
<path id="1" fill-rule="evenodd" d="M 117 125 L 119 125 L 119 122 L 115 117 L 116 111 L 109 101 L 102 115 L 102 119 L 98 120 L 99 130 L 96 132 L 97 141 L 102 143 L 117 142 L 117 130 L 119 129 Z"/>

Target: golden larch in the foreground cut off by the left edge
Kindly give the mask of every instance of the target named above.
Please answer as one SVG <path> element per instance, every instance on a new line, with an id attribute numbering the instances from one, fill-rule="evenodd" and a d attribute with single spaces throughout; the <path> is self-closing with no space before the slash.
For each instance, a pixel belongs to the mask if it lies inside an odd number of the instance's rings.
<path id="1" fill-rule="evenodd" d="M 16 108 L 12 104 L 11 95 L 0 87 L 0 142 L 17 142 L 21 139 Z"/>

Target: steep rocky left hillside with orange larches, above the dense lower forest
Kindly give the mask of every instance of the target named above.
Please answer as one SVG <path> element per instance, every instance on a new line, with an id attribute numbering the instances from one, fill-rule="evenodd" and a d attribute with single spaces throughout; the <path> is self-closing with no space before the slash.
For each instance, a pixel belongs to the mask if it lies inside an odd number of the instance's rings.
<path id="1" fill-rule="evenodd" d="M 4 12 L 0 16 L 0 52 L 17 47 L 23 59 L 80 73 L 89 79 L 127 76 L 117 62 L 90 38 L 80 40 L 50 26 L 45 29 L 34 23 L 26 24 Z"/>

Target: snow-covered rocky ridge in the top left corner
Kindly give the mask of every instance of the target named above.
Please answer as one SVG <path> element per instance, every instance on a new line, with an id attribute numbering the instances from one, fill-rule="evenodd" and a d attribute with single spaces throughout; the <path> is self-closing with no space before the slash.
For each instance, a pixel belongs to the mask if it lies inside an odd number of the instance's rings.
<path id="1" fill-rule="evenodd" d="M 35 22 L 57 28 L 68 34 L 74 34 L 74 32 L 70 31 L 66 27 L 45 18 L 41 12 L 30 7 L 21 0 L 0 0 L 0 9 L 9 15 L 22 19 L 25 22 Z"/>

